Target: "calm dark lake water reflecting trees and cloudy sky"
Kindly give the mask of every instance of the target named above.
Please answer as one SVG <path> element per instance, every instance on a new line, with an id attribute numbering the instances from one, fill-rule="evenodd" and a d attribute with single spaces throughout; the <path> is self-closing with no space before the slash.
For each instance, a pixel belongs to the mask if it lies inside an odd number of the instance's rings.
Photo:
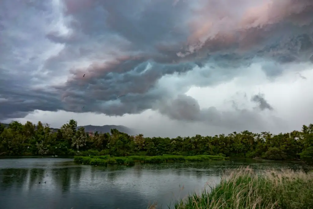
<path id="1" fill-rule="evenodd" d="M 257 170 L 302 168 L 267 160 L 105 168 L 64 158 L 0 159 L 0 208 L 145 209 L 155 201 L 158 208 L 167 208 L 177 198 L 218 183 L 224 170 L 240 165 Z"/>

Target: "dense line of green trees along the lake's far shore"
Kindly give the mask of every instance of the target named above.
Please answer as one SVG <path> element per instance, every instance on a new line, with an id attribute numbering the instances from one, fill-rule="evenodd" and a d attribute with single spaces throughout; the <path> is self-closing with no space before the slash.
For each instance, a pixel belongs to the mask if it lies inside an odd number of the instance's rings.
<path id="1" fill-rule="evenodd" d="M 70 120 L 57 131 L 48 124 L 0 124 L 0 155 L 225 155 L 264 159 L 313 159 L 313 124 L 301 131 L 272 134 L 243 131 L 228 135 L 176 138 L 131 136 L 111 129 L 92 133 Z"/>

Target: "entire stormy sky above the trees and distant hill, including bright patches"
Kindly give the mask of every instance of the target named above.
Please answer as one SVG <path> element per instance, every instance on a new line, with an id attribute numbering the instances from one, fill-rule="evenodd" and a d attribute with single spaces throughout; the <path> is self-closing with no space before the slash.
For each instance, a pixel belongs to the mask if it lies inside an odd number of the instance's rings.
<path id="1" fill-rule="evenodd" d="M 312 14 L 311 0 L 2 0 L 0 121 L 300 130 L 313 120 Z"/>

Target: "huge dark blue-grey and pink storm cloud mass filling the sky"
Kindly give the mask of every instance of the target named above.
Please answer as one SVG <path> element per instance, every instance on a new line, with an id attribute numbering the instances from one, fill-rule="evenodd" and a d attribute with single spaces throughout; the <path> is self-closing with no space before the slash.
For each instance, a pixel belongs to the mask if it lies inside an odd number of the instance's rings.
<path id="1" fill-rule="evenodd" d="M 311 0 L 1 1 L 0 119 L 37 109 L 153 109 L 175 120 L 257 126 L 258 110 L 200 109 L 184 94 L 256 64 L 272 79 L 291 65 L 313 66 L 312 13 Z M 251 102 L 273 110 L 260 95 Z"/>

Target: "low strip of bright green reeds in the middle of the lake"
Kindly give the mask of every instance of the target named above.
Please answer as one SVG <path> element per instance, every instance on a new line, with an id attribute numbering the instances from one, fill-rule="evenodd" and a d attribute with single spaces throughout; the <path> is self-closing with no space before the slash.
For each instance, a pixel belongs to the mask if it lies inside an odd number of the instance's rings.
<path id="1" fill-rule="evenodd" d="M 114 157 L 110 155 L 103 156 L 75 156 L 74 161 L 87 165 L 134 165 L 135 163 L 172 163 L 172 162 L 204 162 L 210 160 L 225 160 L 223 156 L 214 155 L 159 155 L 159 156 L 126 156 Z"/>

